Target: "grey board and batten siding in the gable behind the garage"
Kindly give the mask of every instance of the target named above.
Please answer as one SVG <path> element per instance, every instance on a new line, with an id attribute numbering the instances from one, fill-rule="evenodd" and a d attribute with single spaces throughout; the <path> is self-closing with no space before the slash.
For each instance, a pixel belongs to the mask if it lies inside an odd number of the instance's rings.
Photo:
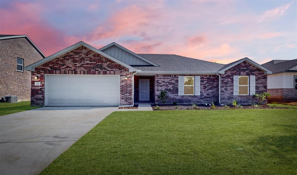
<path id="1" fill-rule="evenodd" d="M 102 50 L 102 52 L 126 63 L 129 65 L 151 65 L 148 62 L 138 58 L 135 55 L 132 55 L 131 53 L 124 51 L 123 49 L 113 45 L 109 48 L 106 48 Z"/>

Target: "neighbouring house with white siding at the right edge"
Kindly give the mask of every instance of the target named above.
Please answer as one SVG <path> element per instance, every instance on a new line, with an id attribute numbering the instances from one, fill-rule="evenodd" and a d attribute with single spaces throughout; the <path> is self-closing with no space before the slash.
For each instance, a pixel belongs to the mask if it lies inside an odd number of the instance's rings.
<path id="1" fill-rule="evenodd" d="M 272 71 L 267 78 L 270 100 L 297 100 L 297 59 L 272 60 L 262 66 Z"/>

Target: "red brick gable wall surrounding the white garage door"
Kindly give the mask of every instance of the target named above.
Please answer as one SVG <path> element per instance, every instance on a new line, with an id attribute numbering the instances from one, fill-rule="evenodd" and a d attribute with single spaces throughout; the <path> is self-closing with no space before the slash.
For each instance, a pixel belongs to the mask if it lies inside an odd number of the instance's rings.
<path id="1" fill-rule="evenodd" d="M 82 57 L 83 62 L 81 62 Z M 35 68 L 31 75 L 31 105 L 44 105 L 45 74 L 121 75 L 120 105 L 132 104 L 132 72 L 84 46 Z M 39 76 L 38 80 L 34 79 L 36 75 Z M 41 82 L 41 86 L 34 86 L 35 81 Z"/>

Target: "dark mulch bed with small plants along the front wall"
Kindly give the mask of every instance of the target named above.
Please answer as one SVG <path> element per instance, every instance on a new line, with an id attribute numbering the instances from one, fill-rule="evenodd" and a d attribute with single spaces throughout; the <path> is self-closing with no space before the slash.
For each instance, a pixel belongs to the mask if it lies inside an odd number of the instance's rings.
<path id="1" fill-rule="evenodd" d="M 211 106 L 202 106 L 199 105 L 197 108 L 193 108 L 192 105 L 158 105 L 160 109 L 156 109 L 156 105 L 151 105 L 154 111 L 166 111 L 166 110 L 200 110 L 200 109 L 206 109 L 206 110 L 217 110 L 217 109 L 288 109 L 285 107 L 274 107 L 271 108 L 268 105 L 260 105 L 260 108 L 252 107 L 252 105 L 242 105 L 242 108 L 236 108 L 233 106 L 229 106 L 229 108 L 226 108 L 225 106 L 216 106 L 216 108 L 211 108 Z"/>

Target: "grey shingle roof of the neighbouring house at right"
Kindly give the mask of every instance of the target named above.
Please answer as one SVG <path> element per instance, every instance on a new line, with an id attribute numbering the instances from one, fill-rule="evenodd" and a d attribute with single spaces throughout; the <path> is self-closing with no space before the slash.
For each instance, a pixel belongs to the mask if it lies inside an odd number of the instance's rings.
<path id="1" fill-rule="evenodd" d="M 262 64 L 263 67 L 271 70 L 272 73 L 288 71 L 290 68 L 297 66 L 297 59 L 293 60 L 271 60 Z"/>

